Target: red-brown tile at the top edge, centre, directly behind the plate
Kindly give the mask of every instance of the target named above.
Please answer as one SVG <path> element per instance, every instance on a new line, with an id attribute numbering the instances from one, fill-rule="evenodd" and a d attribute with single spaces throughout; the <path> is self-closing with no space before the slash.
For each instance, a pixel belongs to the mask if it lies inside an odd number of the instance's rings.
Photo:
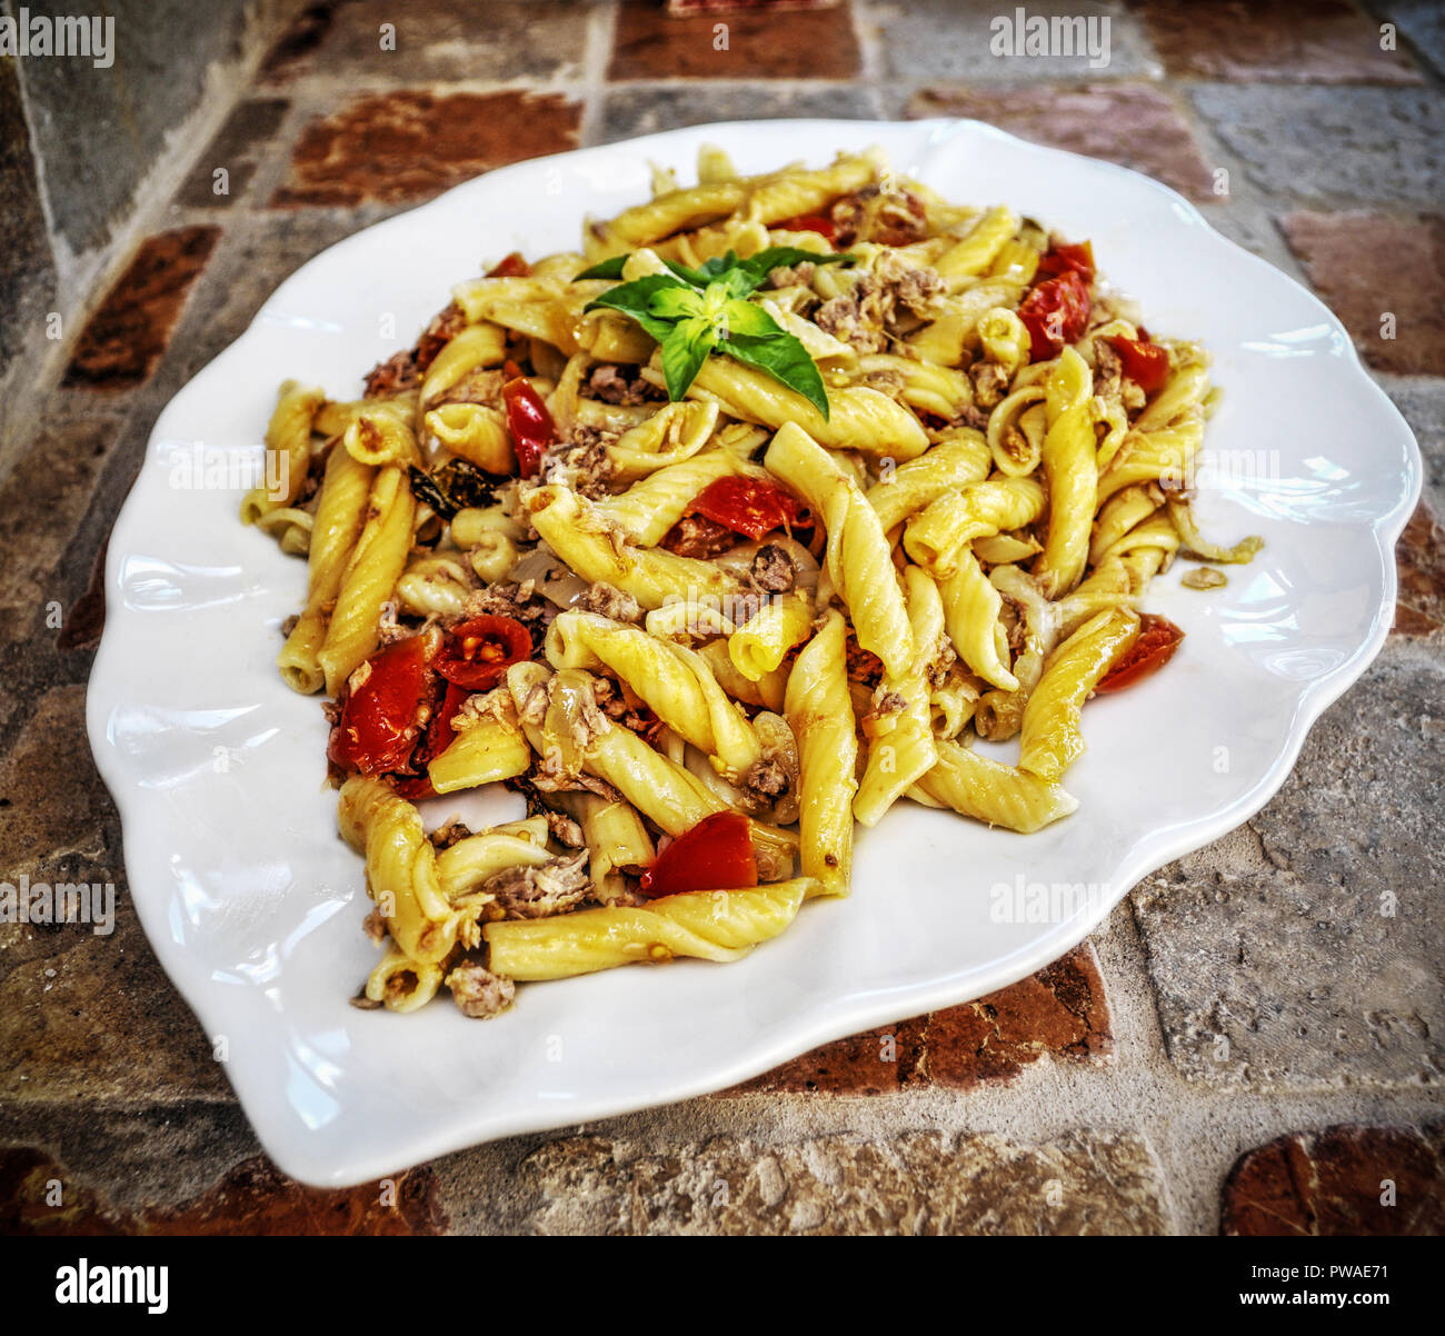
<path id="1" fill-rule="evenodd" d="M 649 0 L 624 0 L 608 78 L 847 79 L 857 72 L 847 7 L 679 19 Z"/>

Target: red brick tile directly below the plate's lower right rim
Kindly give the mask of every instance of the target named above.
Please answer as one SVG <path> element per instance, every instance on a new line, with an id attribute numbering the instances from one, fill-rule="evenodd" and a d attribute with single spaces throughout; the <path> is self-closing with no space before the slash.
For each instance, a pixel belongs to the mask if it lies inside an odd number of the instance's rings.
<path id="1" fill-rule="evenodd" d="M 899 1021 L 814 1049 L 730 1095 L 883 1095 L 918 1085 L 1012 1080 L 1045 1054 L 1113 1050 L 1098 959 L 1085 943 L 1032 978 L 975 1002 Z"/>

